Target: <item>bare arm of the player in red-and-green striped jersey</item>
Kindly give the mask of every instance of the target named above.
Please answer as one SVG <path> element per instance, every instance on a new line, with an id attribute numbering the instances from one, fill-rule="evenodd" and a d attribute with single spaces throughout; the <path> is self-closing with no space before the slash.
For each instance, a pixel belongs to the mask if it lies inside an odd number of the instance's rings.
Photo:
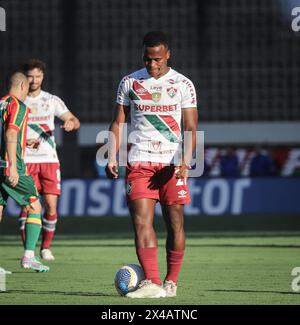
<path id="1" fill-rule="evenodd" d="M 18 131 L 15 128 L 8 128 L 5 132 L 6 152 L 9 161 L 9 177 L 8 180 L 12 187 L 17 186 L 19 174 L 17 169 L 17 145 Z"/>

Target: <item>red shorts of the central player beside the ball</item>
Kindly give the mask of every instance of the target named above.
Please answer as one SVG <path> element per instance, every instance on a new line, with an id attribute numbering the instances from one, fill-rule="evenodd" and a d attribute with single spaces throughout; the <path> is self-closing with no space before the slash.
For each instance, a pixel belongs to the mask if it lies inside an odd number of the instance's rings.
<path id="1" fill-rule="evenodd" d="M 164 205 L 190 203 L 187 179 L 177 179 L 175 168 L 174 165 L 151 162 L 127 164 L 127 200 L 149 198 Z"/>

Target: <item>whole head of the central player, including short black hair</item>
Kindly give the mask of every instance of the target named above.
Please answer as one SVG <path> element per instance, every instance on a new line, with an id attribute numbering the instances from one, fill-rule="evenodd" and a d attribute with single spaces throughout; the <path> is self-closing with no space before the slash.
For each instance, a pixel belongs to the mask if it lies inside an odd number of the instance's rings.
<path id="1" fill-rule="evenodd" d="M 168 72 L 170 58 L 167 36 L 160 31 L 149 32 L 143 39 L 143 60 L 151 77 L 158 79 Z"/>

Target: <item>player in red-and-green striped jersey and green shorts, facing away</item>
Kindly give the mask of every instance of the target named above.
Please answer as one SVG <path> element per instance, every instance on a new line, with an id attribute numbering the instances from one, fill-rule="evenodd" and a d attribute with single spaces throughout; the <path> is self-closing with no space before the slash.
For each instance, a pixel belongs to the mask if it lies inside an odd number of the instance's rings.
<path id="1" fill-rule="evenodd" d="M 1 172 L 0 220 L 8 196 L 27 211 L 25 220 L 25 252 L 21 266 L 37 272 L 47 272 L 49 267 L 35 257 L 35 246 L 41 231 L 41 204 L 38 192 L 23 160 L 26 147 L 26 131 L 29 108 L 24 104 L 29 83 L 20 72 L 14 73 L 9 81 L 9 94 L 0 101 L 1 109 L 1 159 L 6 167 Z M 34 142 L 32 142 L 34 145 Z"/>

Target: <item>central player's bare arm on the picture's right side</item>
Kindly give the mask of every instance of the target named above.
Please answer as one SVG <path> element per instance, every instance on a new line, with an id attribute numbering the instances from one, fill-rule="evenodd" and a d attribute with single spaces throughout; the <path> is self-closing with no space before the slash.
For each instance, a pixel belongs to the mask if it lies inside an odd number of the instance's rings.
<path id="1" fill-rule="evenodd" d="M 196 148 L 196 131 L 198 127 L 197 108 L 185 108 L 183 110 L 183 126 L 184 131 L 189 131 L 189 133 L 186 135 L 188 141 L 185 141 L 183 160 L 176 173 L 177 178 L 185 178 L 188 176 L 190 162 Z"/>

